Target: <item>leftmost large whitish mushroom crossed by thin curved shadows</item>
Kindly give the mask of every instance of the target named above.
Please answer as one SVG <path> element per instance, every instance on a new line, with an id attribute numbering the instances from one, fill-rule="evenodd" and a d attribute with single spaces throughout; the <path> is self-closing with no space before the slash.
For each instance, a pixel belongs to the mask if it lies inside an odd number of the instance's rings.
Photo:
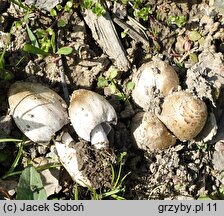
<path id="1" fill-rule="evenodd" d="M 33 142 L 48 143 L 69 122 L 65 101 L 46 86 L 15 82 L 8 94 L 17 127 Z"/>

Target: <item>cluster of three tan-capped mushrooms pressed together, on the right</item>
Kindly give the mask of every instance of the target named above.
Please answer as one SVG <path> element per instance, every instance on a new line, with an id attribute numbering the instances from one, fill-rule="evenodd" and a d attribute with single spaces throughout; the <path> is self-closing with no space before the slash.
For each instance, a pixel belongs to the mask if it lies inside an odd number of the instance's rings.
<path id="1" fill-rule="evenodd" d="M 138 148 L 165 149 L 173 146 L 176 138 L 188 141 L 201 132 L 207 120 L 207 106 L 196 96 L 179 90 L 178 76 L 170 65 L 159 59 L 145 63 L 133 82 L 136 87 L 132 98 L 144 110 L 132 119 L 131 131 Z M 151 109 L 157 95 L 164 99 L 161 113 Z"/>

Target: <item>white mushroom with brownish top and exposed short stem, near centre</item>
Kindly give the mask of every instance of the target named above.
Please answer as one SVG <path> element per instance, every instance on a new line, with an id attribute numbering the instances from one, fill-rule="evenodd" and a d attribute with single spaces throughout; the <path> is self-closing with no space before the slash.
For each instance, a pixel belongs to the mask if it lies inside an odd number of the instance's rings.
<path id="1" fill-rule="evenodd" d="M 71 96 L 69 116 L 77 135 L 90 141 L 96 148 L 107 147 L 110 124 L 117 124 L 117 114 L 101 95 L 85 90 L 75 90 Z"/>

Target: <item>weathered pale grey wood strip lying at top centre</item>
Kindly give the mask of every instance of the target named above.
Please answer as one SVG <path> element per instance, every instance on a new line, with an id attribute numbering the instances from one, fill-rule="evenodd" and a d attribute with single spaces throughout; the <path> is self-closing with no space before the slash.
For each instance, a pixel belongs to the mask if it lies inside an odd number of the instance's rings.
<path id="1" fill-rule="evenodd" d="M 94 0 L 93 2 L 97 1 Z M 102 2 L 102 5 L 105 4 Z M 104 9 L 106 10 L 106 6 Z M 103 51 L 115 62 L 120 70 L 127 71 L 130 68 L 130 62 L 107 10 L 102 16 L 97 16 L 91 10 L 85 10 L 83 17 L 92 31 L 93 38 Z"/>

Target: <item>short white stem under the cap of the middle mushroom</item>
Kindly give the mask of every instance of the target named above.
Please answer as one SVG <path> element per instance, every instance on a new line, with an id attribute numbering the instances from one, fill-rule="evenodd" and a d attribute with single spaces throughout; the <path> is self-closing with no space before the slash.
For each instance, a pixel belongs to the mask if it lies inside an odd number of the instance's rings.
<path id="1" fill-rule="evenodd" d="M 101 124 L 97 125 L 91 131 L 90 141 L 91 144 L 93 144 L 97 149 L 108 147 L 109 141 L 107 139 L 107 134 L 105 133 Z"/>

